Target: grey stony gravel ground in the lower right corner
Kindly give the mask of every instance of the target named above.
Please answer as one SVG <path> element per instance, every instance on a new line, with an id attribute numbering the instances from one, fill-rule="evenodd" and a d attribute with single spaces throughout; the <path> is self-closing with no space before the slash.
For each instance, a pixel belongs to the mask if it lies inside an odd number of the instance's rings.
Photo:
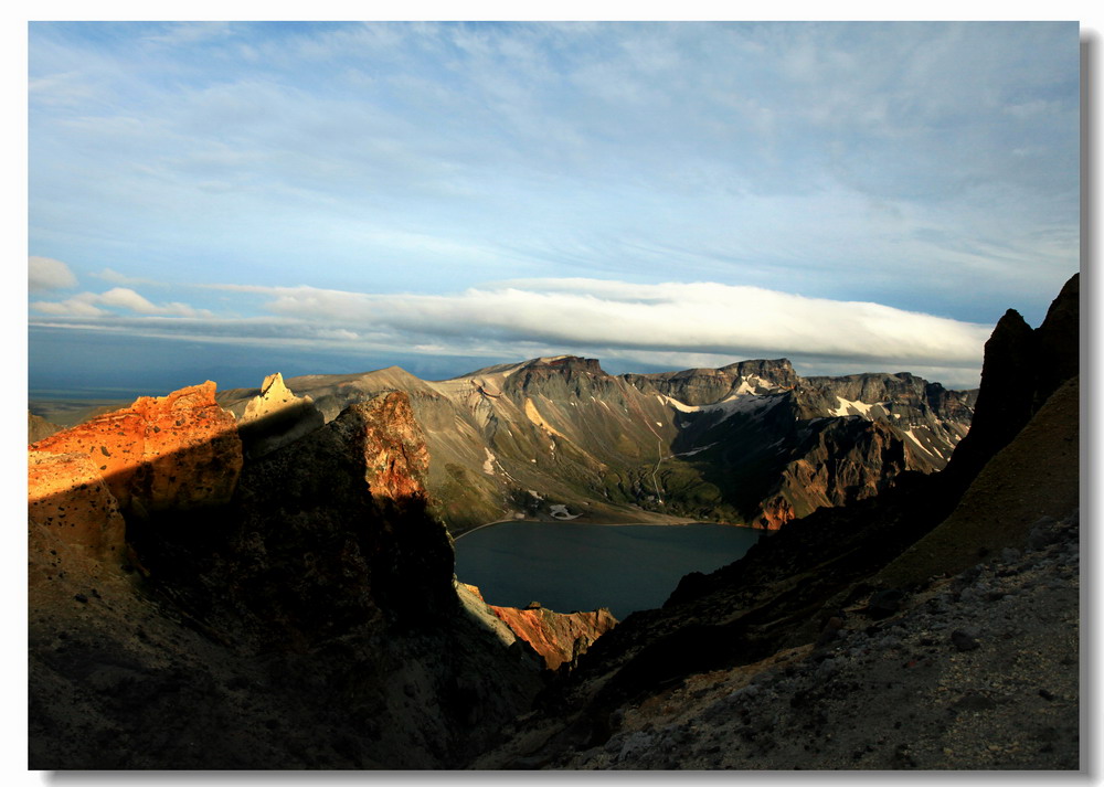
<path id="1" fill-rule="evenodd" d="M 1078 513 L 1044 518 L 1025 550 L 875 593 L 815 646 L 693 676 L 548 767 L 1076 770 L 1079 574 Z"/>

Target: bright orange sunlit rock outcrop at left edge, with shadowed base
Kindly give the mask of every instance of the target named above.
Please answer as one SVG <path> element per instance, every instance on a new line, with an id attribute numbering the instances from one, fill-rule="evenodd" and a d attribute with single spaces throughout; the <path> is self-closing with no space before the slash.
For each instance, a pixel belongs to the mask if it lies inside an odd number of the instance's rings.
<path id="1" fill-rule="evenodd" d="M 242 469 L 242 442 L 214 391 L 209 381 L 141 396 L 31 447 L 88 457 L 123 510 L 137 515 L 224 504 Z"/>

